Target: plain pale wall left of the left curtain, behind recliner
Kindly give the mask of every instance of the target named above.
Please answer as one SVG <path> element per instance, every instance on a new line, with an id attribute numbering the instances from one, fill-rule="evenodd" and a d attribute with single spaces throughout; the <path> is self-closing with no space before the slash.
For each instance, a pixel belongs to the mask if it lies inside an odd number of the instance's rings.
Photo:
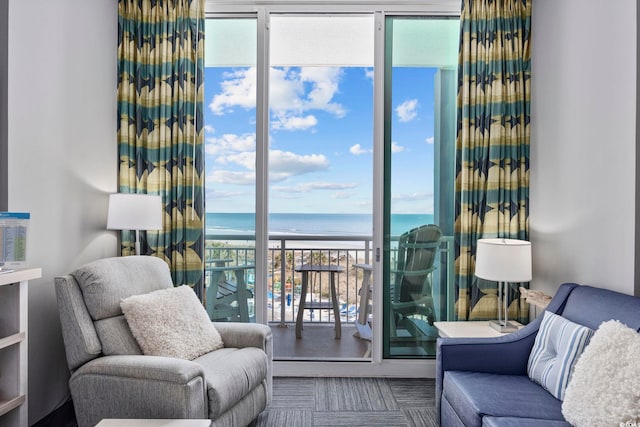
<path id="1" fill-rule="evenodd" d="M 116 254 L 116 0 L 10 0 L 8 206 L 31 212 L 29 423 L 68 395 L 53 278 Z"/>

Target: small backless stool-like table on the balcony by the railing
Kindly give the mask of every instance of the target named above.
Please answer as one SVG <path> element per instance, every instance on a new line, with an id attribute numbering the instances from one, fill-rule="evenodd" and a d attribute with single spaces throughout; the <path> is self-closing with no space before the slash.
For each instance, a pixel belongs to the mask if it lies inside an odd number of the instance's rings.
<path id="1" fill-rule="evenodd" d="M 340 324 L 340 309 L 338 308 L 338 294 L 336 293 L 336 273 L 342 272 L 339 265 L 314 265 L 302 264 L 295 268 L 295 271 L 302 273 L 302 291 L 300 292 L 300 306 L 296 317 L 296 338 L 302 338 L 302 321 L 305 310 L 331 310 L 333 309 L 333 319 L 335 322 L 336 339 L 342 336 L 342 325 Z M 307 291 L 309 289 L 309 272 L 327 272 L 330 275 L 329 286 L 331 288 L 331 302 L 307 302 Z"/>

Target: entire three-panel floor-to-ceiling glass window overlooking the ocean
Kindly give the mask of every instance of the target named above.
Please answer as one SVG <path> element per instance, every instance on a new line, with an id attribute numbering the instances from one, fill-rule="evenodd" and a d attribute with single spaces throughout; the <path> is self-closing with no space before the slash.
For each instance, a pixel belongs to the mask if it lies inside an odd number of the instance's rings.
<path id="1" fill-rule="evenodd" d="M 208 311 L 269 324 L 276 361 L 433 357 L 452 304 L 459 24 L 290 7 L 225 3 L 207 19 Z M 400 292 L 401 237 L 428 224 L 441 233 L 429 295 Z M 335 292 L 303 264 L 335 267 Z M 300 333 L 303 279 L 318 305 Z"/>

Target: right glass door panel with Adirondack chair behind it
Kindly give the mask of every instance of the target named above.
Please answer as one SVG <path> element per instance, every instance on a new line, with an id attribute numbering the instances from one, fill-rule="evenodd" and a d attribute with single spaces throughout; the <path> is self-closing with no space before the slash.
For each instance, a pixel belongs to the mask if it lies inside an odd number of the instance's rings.
<path id="1" fill-rule="evenodd" d="M 384 357 L 434 357 L 453 265 L 459 22 L 387 17 Z"/>

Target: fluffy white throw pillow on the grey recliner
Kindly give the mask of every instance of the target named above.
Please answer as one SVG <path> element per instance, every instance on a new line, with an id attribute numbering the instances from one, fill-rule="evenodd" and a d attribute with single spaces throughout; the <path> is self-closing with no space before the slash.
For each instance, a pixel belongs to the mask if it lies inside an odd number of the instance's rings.
<path id="1" fill-rule="evenodd" d="M 193 360 L 224 346 L 189 286 L 130 296 L 120 307 L 146 355 Z"/>

